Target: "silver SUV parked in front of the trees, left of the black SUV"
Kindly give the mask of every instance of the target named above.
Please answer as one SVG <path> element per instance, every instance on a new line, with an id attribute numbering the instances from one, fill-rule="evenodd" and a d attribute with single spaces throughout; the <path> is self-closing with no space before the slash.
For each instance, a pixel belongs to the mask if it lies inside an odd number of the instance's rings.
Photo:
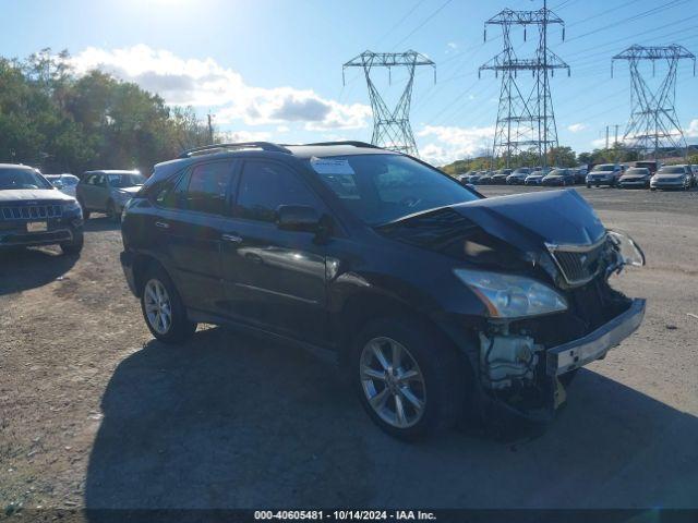
<path id="1" fill-rule="evenodd" d="M 120 220 L 129 199 L 145 182 L 139 171 L 87 171 L 77 184 L 77 202 L 86 220 L 91 212 L 106 212 Z"/>

